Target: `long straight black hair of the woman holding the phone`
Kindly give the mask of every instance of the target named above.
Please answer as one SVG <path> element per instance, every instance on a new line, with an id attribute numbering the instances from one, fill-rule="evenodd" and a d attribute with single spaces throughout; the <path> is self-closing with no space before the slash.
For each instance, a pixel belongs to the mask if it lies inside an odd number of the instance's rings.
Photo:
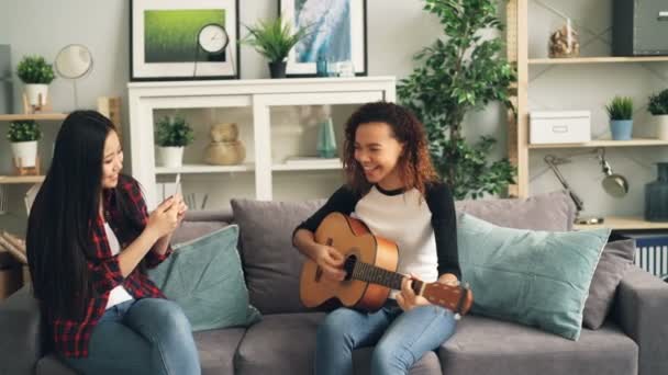
<path id="1" fill-rule="evenodd" d="M 94 255 L 92 226 L 99 215 L 104 143 L 111 132 L 115 132 L 113 123 L 98 112 L 69 114 L 30 212 L 26 250 L 33 288 L 51 317 L 80 318 L 94 294 L 87 261 Z M 116 205 L 126 214 L 124 194 L 115 193 Z"/>

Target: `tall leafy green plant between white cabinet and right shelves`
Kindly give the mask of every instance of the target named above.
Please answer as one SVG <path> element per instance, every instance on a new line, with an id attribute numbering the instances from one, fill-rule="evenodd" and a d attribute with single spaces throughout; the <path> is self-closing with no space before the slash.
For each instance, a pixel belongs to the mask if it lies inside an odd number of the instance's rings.
<path id="1" fill-rule="evenodd" d="M 420 66 L 398 87 L 401 103 L 425 124 L 434 166 L 459 200 L 501 193 L 515 174 L 508 159 L 488 160 L 496 139 L 469 144 L 461 125 L 467 112 L 492 101 L 512 106 L 515 70 L 501 58 L 501 38 L 480 34 L 502 30 L 496 2 L 425 0 L 424 10 L 438 16 L 447 37 L 415 55 Z"/>

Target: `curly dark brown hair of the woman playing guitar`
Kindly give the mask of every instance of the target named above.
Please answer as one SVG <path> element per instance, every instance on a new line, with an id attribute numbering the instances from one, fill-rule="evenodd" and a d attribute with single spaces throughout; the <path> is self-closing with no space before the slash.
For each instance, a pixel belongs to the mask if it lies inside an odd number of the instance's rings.
<path id="1" fill-rule="evenodd" d="M 424 125 L 410 110 L 388 102 L 367 103 L 355 111 L 346 123 L 343 163 L 349 188 L 359 195 L 371 189 L 355 160 L 355 133 L 359 125 L 368 123 L 386 123 L 391 127 L 394 139 L 403 144 L 397 168 L 404 189 L 415 188 L 424 195 L 425 184 L 438 180 L 430 159 Z"/>

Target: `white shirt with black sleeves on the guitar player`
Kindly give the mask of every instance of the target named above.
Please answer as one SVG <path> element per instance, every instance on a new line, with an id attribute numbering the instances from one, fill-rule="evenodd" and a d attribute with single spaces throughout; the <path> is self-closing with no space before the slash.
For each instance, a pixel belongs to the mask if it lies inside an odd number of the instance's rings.
<path id="1" fill-rule="evenodd" d="M 425 282 L 435 282 L 444 273 L 460 279 L 453 196 L 444 183 L 425 188 L 423 196 L 416 189 L 386 191 L 374 185 L 367 194 L 357 196 L 344 185 L 296 230 L 315 232 L 333 212 L 350 215 L 361 219 L 374 235 L 397 243 L 399 273 L 413 273 Z M 390 298 L 397 293 L 393 291 Z"/>

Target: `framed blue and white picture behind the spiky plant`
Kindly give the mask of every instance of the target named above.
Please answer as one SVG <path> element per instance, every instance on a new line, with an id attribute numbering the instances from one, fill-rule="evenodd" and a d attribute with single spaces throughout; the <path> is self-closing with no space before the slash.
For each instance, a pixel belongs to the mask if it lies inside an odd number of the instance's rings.
<path id="1" fill-rule="evenodd" d="M 314 77 L 319 59 L 329 69 L 353 64 L 356 76 L 367 75 L 366 0 L 279 0 L 279 12 L 292 27 L 309 27 L 288 56 L 287 75 Z"/>

